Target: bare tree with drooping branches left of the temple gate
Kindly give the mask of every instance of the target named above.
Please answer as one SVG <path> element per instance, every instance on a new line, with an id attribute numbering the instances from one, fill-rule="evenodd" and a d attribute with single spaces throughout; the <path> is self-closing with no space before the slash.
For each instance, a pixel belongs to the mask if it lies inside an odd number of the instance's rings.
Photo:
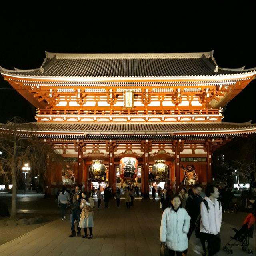
<path id="1" fill-rule="evenodd" d="M 11 219 L 16 219 L 16 197 L 22 166 L 29 163 L 33 175 L 45 178 L 46 159 L 51 156 L 57 162 L 62 162 L 62 156 L 55 152 L 51 144 L 39 138 L 38 128 L 33 123 L 26 123 L 20 118 L 13 122 L 0 124 L 0 176 L 12 183 Z M 41 178 L 42 181 L 42 178 Z"/>

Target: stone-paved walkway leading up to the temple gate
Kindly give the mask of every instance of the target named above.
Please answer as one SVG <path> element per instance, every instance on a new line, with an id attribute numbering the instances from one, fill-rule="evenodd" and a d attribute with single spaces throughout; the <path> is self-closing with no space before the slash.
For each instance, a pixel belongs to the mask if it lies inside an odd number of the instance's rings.
<path id="1" fill-rule="evenodd" d="M 20 195 L 19 195 L 20 196 Z M 19 197 L 18 196 L 18 197 Z M 26 200 L 29 198 L 20 196 L 26 204 L 18 204 L 30 208 Z M 36 198 L 36 196 L 34 196 Z M 38 200 L 43 202 L 40 194 Z M 1 195 L 0 195 L 1 198 Z M 25 198 L 25 199 L 24 199 Z M 49 199 L 47 199 L 49 200 Z M 96 200 L 96 199 L 95 199 Z M 36 200 L 32 199 L 33 204 Z M 45 206 L 43 203 L 34 205 L 33 212 L 37 207 L 40 214 L 49 214 L 59 212 L 54 204 L 54 199 Z M 40 205 L 40 206 L 39 206 Z M 104 208 L 104 202 L 101 208 L 95 211 L 93 239 L 83 239 L 82 237 L 70 238 L 70 222 L 61 221 L 60 218 L 49 222 L 31 232 L 16 238 L 0 246 L 1 256 L 158 256 L 160 250 L 160 221 L 162 209 L 159 208 L 159 201 L 144 200 L 137 198 L 134 200 L 134 206 L 126 209 L 124 199 L 121 199 L 120 208 L 116 207 L 116 201 L 110 200 L 110 208 Z M 44 210 L 42 210 L 44 206 Z M 18 211 L 28 211 L 28 209 L 19 208 Z M 242 222 L 248 213 L 238 212 L 236 214 L 223 214 L 221 240 L 222 247 L 234 235 L 232 228 L 240 229 Z M 69 215 L 68 215 L 69 219 Z M 83 230 L 82 230 L 83 234 Z M 196 256 L 198 254 L 192 251 L 195 237 L 190 239 L 187 256 Z M 222 248 L 221 247 L 221 248 Z M 255 230 L 254 238 L 250 238 L 250 246 L 255 255 Z M 246 255 L 239 246 L 233 248 L 234 256 Z M 218 256 L 227 255 L 223 249 Z"/>

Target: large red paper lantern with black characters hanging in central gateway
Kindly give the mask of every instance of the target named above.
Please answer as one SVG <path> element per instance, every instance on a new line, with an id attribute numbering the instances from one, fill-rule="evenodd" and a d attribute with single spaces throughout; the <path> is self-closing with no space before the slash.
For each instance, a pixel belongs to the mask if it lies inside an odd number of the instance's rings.
<path id="1" fill-rule="evenodd" d="M 119 173 L 123 179 L 134 179 L 137 177 L 138 160 L 133 157 L 124 157 L 119 162 Z"/>

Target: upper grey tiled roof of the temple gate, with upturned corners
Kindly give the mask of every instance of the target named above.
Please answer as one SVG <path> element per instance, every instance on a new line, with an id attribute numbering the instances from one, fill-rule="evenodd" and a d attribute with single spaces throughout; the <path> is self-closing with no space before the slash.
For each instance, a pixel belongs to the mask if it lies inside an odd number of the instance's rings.
<path id="1" fill-rule="evenodd" d="M 40 68 L 6 70 L 26 77 L 152 78 L 243 74 L 243 70 L 217 68 L 212 52 L 170 54 L 60 54 L 46 52 Z"/>

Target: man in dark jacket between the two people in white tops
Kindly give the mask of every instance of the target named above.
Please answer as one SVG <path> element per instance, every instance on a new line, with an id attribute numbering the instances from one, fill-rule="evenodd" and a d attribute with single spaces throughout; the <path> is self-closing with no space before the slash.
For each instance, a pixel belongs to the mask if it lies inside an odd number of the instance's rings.
<path id="1" fill-rule="evenodd" d="M 195 229 L 195 222 L 198 215 L 200 214 L 200 204 L 203 200 L 201 193 L 202 186 L 198 183 L 194 184 L 193 193 L 188 196 L 188 199 L 186 201 L 186 210 L 191 218 L 190 227 L 188 231 L 188 240 Z"/>

